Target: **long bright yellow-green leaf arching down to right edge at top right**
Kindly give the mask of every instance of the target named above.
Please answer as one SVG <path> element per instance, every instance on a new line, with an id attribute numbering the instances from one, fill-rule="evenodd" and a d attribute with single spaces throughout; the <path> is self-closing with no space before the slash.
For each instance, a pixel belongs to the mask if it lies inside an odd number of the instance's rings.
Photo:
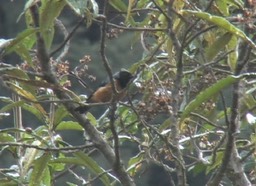
<path id="1" fill-rule="evenodd" d="M 190 16 L 194 15 L 198 18 L 201 18 L 201 19 L 204 19 L 208 22 L 211 22 L 211 23 L 215 24 L 216 26 L 218 26 L 220 28 L 223 28 L 226 31 L 244 39 L 253 48 L 256 48 L 256 45 L 253 43 L 253 41 L 249 37 L 247 37 L 247 35 L 242 30 L 240 30 L 238 27 L 232 25 L 228 20 L 226 20 L 223 17 L 214 16 L 214 15 L 211 15 L 211 14 L 206 13 L 206 12 L 198 12 L 198 11 L 192 11 L 192 10 L 183 10 L 182 12 L 185 13 L 185 14 L 188 14 Z"/>

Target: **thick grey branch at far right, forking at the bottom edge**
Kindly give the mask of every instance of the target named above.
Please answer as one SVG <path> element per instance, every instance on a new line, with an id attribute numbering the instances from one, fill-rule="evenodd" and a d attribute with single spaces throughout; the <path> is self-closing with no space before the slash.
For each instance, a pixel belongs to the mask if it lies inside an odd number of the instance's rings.
<path id="1" fill-rule="evenodd" d="M 249 8 L 249 4 L 245 1 L 245 7 Z M 245 28 L 245 33 L 248 33 L 248 27 Z M 235 69 L 235 75 L 240 75 L 245 65 L 249 62 L 249 57 L 251 54 L 251 46 L 247 44 L 246 41 L 242 42 L 240 45 L 239 57 L 237 60 L 237 65 Z M 239 154 L 236 148 L 236 134 L 240 130 L 240 81 L 234 83 L 233 85 L 233 96 L 232 96 L 232 105 L 231 105 L 231 116 L 230 121 L 227 122 L 228 132 L 227 132 L 227 143 L 225 147 L 224 156 L 222 159 L 222 164 L 220 169 L 209 181 L 209 186 L 219 185 L 221 182 L 225 172 L 227 171 L 227 175 L 230 180 L 234 180 L 233 174 L 236 175 L 236 181 L 241 185 L 251 185 L 248 178 L 244 174 L 243 165 L 241 164 Z M 233 182 L 233 181 L 232 181 Z M 233 182 L 233 183 L 235 183 Z"/>

